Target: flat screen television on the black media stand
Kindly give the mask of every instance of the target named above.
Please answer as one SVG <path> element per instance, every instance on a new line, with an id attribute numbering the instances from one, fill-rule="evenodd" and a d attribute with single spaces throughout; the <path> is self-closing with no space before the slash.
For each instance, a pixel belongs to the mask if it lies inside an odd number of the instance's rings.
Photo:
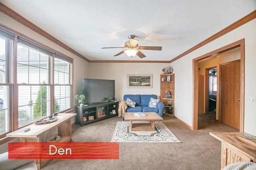
<path id="1" fill-rule="evenodd" d="M 86 104 L 115 100 L 115 80 L 82 78 L 82 94 Z"/>

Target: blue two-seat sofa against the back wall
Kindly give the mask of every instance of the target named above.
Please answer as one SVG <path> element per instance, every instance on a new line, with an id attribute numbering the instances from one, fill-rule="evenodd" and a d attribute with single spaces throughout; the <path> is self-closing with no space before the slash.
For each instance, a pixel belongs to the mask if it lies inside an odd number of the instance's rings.
<path id="1" fill-rule="evenodd" d="M 126 94 L 124 95 L 124 100 L 127 98 L 136 102 L 135 107 L 129 107 L 126 109 L 126 112 L 156 112 L 158 115 L 163 117 L 164 104 L 158 102 L 156 107 L 149 107 L 150 99 L 157 99 L 157 96 L 154 94 Z"/>

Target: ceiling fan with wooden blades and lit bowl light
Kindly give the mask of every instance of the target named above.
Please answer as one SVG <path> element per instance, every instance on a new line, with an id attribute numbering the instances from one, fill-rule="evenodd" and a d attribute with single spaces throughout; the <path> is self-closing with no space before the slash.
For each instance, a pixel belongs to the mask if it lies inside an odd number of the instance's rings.
<path id="1" fill-rule="evenodd" d="M 162 47 L 153 47 L 153 46 L 138 46 L 139 40 L 134 39 L 135 35 L 129 35 L 129 41 L 124 43 L 124 47 L 103 47 L 102 49 L 114 49 L 114 48 L 122 48 L 125 49 L 120 53 L 117 53 L 114 56 L 121 55 L 122 53 L 126 53 L 129 57 L 133 57 L 134 55 L 138 55 L 141 59 L 146 57 L 143 53 L 139 50 L 158 50 L 161 51 Z"/>

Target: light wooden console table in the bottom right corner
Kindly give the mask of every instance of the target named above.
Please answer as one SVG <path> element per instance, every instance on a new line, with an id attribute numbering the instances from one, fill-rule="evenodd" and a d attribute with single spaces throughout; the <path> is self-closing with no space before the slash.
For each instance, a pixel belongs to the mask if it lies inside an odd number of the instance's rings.
<path id="1" fill-rule="evenodd" d="M 256 162 L 255 150 L 240 145 L 228 136 L 250 134 L 243 132 L 210 132 L 210 135 L 221 141 L 221 169 L 235 162 Z"/>

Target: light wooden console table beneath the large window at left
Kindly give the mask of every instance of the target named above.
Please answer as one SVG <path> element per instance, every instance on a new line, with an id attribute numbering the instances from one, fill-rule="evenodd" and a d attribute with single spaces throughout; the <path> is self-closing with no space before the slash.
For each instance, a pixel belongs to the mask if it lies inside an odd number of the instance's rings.
<path id="1" fill-rule="evenodd" d="M 27 127 L 30 127 L 30 130 L 27 132 L 18 132 L 13 131 L 12 133 L 8 133 L 6 137 L 18 137 L 20 138 L 20 142 L 34 142 L 39 143 L 42 142 L 42 135 L 46 132 L 49 132 L 56 127 L 58 127 L 58 136 L 60 136 L 60 140 L 58 142 L 69 142 L 71 140 L 71 119 L 75 117 L 76 113 L 58 113 L 58 119 L 51 123 L 45 124 L 32 124 Z M 44 137 L 44 136 L 43 136 Z M 36 166 L 38 169 L 42 168 L 44 164 L 46 164 L 48 160 L 44 159 L 36 159 Z"/>

